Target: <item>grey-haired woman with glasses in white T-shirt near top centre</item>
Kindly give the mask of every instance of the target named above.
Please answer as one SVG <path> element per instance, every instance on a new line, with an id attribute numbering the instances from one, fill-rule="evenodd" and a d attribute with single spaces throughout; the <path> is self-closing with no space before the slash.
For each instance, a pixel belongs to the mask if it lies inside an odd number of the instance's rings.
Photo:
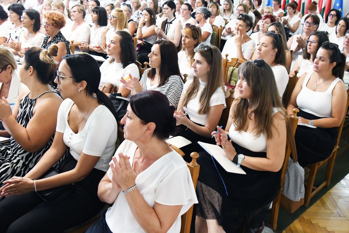
<path id="1" fill-rule="evenodd" d="M 212 36 L 212 26 L 207 19 L 212 16 L 212 13 L 206 7 L 199 7 L 196 9 L 195 20 L 199 22 L 196 24 L 199 28 L 201 28 L 201 42 L 204 45 L 211 44 L 211 36 Z"/>

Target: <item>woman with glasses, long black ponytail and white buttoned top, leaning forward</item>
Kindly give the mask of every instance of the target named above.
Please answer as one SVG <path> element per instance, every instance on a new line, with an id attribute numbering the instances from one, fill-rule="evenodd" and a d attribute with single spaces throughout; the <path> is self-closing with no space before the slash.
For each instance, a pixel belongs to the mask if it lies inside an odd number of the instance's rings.
<path id="1" fill-rule="evenodd" d="M 65 100 L 58 110 L 53 144 L 27 175 L 12 177 L 0 189 L 1 196 L 7 196 L 0 202 L 1 232 L 63 232 L 89 220 L 105 205 L 97 189 L 115 151 L 113 104 L 98 90 L 101 73 L 88 54 L 66 56 L 57 73 L 55 82 Z M 40 178 L 66 151 L 59 174 Z M 72 184 L 65 197 L 50 203 L 37 194 Z"/>

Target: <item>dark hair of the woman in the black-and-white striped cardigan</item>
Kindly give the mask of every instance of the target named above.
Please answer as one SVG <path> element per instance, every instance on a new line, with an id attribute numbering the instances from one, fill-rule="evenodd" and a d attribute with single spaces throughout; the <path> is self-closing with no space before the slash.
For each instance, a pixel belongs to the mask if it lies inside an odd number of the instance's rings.
<path id="1" fill-rule="evenodd" d="M 170 41 L 161 39 L 155 41 L 154 44 L 158 44 L 160 47 L 161 65 L 159 71 L 159 87 L 161 87 L 169 80 L 171 75 L 181 77 L 178 66 L 178 54 L 176 46 Z M 153 80 L 155 73 L 155 69 L 150 69 L 148 78 Z"/>

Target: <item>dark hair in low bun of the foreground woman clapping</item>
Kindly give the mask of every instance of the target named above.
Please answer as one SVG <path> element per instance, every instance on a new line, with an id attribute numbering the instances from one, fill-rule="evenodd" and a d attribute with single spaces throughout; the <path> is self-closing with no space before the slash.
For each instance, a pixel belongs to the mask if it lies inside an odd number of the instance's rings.
<path id="1" fill-rule="evenodd" d="M 156 127 L 153 136 L 165 140 L 176 132 L 175 107 L 161 92 L 146 90 L 131 96 L 130 107 L 143 124 L 154 122 Z"/>

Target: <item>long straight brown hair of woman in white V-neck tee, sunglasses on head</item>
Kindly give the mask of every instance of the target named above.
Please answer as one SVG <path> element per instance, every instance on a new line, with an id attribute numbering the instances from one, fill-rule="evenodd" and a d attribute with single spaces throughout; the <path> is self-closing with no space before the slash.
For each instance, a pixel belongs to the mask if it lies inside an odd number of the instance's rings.
<path id="1" fill-rule="evenodd" d="M 211 70 L 208 75 L 207 85 L 200 94 L 200 107 L 198 114 L 207 114 L 210 107 L 210 99 L 213 93 L 218 87 L 223 89 L 223 70 L 222 70 L 222 54 L 216 46 L 210 45 L 211 49 L 203 51 L 201 49 L 195 49 L 195 52 L 200 54 L 203 59 L 211 66 Z M 183 106 L 187 107 L 188 102 L 194 99 L 199 91 L 199 77 L 193 78 L 190 83 L 187 93 L 184 96 Z"/>

